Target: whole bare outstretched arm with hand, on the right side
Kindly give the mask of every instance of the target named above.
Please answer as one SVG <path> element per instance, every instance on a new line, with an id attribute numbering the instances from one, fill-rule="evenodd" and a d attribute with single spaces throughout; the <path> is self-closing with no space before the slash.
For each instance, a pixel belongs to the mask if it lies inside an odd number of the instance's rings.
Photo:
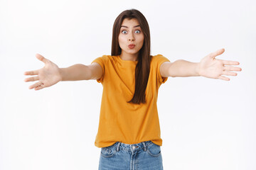
<path id="1" fill-rule="evenodd" d="M 229 81 L 225 76 L 236 76 L 240 72 L 239 62 L 215 59 L 216 56 L 223 54 L 225 50 L 220 49 L 203 57 L 201 62 L 188 62 L 186 60 L 177 60 L 176 62 L 164 62 L 161 64 L 160 73 L 162 77 L 208 77 L 212 79 L 223 79 Z M 226 66 L 227 65 L 227 66 Z M 225 75 L 225 76 L 223 76 Z"/>

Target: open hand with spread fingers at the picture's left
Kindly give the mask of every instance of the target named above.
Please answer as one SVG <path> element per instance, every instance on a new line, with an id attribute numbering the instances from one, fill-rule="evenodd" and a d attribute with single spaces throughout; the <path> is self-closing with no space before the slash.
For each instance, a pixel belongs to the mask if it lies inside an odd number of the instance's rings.
<path id="1" fill-rule="evenodd" d="M 47 60 L 45 57 L 39 54 L 36 54 L 36 57 L 38 58 L 38 60 L 44 62 L 45 66 L 38 70 L 24 72 L 24 75 L 38 75 L 36 77 L 29 77 L 24 80 L 26 82 L 38 80 L 38 82 L 29 86 L 28 89 L 40 90 L 48 86 L 53 86 L 53 84 L 61 81 L 62 77 L 60 74 L 60 69 L 55 63 Z"/>

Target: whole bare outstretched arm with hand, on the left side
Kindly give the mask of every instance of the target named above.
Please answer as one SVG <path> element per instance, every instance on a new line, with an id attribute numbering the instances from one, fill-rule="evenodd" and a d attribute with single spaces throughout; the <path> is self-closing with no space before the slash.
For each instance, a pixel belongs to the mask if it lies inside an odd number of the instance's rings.
<path id="1" fill-rule="evenodd" d="M 46 59 L 42 55 L 36 55 L 38 60 L 44 62 L 45 67 L 24 72 L 25 75 L 37 75 L 36 77 L 26 78 L 24 81 L 38 81 L 29 86 L 29 89 L 40 90 L 45 87 L 53 86 L 59 81 L 76 81 L 88 79 L 100 79 L 102 77 L 102 68 L 100 64 L 92 63 L 90 65 L 75 64 L 68 68 L 59 68 L 55 63 Z"/>

